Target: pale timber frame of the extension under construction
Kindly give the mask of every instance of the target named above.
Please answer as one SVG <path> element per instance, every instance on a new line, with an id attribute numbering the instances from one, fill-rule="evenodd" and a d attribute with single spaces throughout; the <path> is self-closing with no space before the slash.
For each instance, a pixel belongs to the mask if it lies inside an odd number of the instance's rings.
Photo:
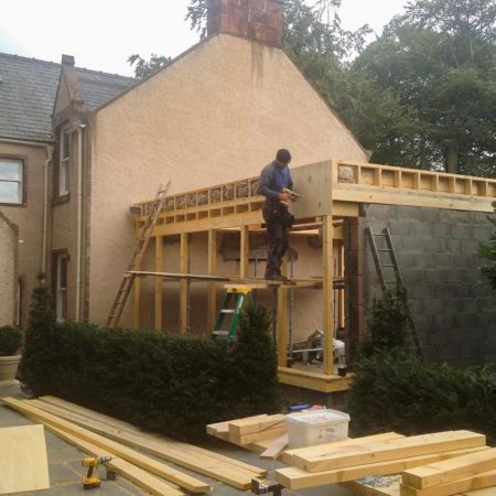
<path id="1" fill-rule="evenodd" d="M 257 194 L 258 177 L 203 187 L 165 198 L 153 236 L 165 239 L 180 235 L 180 272 L 164 272 L 163 254 L 155 247 L 155 272 L 136 271 L 137 282 L 142 277 L 180 281 L 180 332 L 188 331 L 190 282 L 207 281 L 207 322 L 215 321 L 216 284 L 222 282 L 265 283 L 273 290 L 278 302 L 277 336 L 280 381 L 324 392 L 347 389 L 349 377 L 333 375 L 333 337 L 336 326 L 343 326 L 345 315 L 343 227 L 345 217 L 358 217 L 360 204 L 427 206 L 433 208 L 493 212 L 496 200 L 496 180 L 471 177 L 442 172 L 405 169 L 345 160 L 332 160 L 291 170 L 301 201 L 291 212 L 295 224 L 293 236 L 313 236 L 322 242 L 322 272 L 319 279 L 295 278 L 288 283 L 272 283 L 249 276 L 249 236 L 263 231 L 261 208 L 263 197 Z M 136 234 L 147 219 L 151 201 L 132 205 Z M 217 270 L 217 234 L 239 233 L 238 273 L 219 276 Z M 207 274 L 188 272 L 188 234 L 207 233 Z M 288 270 L 284 263 L 283 270 Z M 337 272 L 337 273 L 336 273 Z M 288 294 L 295 288 L 322 289 L 323 294 L 323 374 L 289 369 L 287 365 L 290 305 Z M 139 285 L 137 293 L 139 295 Z M 155 313 L 162 312 L 160 283 L 155 282 Z M 336 300 L 336 302 L 334 302 Z M 134 300 L 134 323 L 139 322 L 140 305 Z M 166 309 L 164 309 L 166 314 Z M 162 317 L 155 314 L 155 327 Z M 211 328 L 212 325 L 209 325 Z"/>

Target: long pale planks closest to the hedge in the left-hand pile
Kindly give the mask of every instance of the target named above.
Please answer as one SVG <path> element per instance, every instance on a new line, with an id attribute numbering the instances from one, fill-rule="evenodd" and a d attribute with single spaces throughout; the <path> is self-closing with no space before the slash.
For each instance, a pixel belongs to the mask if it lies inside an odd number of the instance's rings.
<path id="1" fill-rule="evenodd" d="M 58 398 L 41 398 L 43 401 L 46 399 L 50 399 L 52 402 L 55 401 L 58 405 L 68 403 Z M 173 441 L 158 434 L 147 433 L 134 425 L 111 417 L 97 413 L 74 403 L 68 405 L 71 406 L 72 412 L 82 414 L 78 421 L 73 420 L 75 423 L 101 433 L 107 438 L 125 442 L 147 453 L 173 462 L 176 465 L 207 475 L 216 481 L 225 482 L 234 487 L 248 489 L 252 477 L 263 477 L 267 475 L 267 471 L 238 460 L 229 459 L 228 456 L 223 456 L 222 454 L 193 446 L 192 444 Z"/>

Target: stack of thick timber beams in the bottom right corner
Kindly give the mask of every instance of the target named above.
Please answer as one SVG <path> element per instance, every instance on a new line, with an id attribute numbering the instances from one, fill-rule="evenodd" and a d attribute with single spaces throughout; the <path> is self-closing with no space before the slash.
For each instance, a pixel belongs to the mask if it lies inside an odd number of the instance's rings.
<path id="1" fill-rule="evenodd" d="M 289 489 L 388 474 L 401 474 L 398 496 L 449 496 L 496 486 L 496 450 L 471 431 L 408 438 L 389 432 L 288 450 L 282 456 L 291 466 L 277 470 L 276 479 Z"/>

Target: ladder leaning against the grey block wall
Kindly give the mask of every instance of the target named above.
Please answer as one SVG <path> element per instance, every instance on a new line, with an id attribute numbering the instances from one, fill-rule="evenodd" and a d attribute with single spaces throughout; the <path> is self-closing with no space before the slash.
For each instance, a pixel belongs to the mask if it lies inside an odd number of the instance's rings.
<path id="1" fill-rule="evenodd" d="M 389 228 L 385 227 L 381 233 L 374 233 L 370 227 L 366 227 L 365 233 L 370 245 L 370 250 L 382 293 L 389 289 L 389 285 L 392 288 L 399 283 L 405 287 Z M 381 254 L 384 254 L 384 256 L 381 256 Z M 395 277 L 388 279 L 386 273 L 391 274 L 391 271 Z M 423 358 L 422 347 L 420 345 L 419 336 L 411 315 L 409 334 L 411 334 L 411 339 L 413 342 L 417 356 Z"/>

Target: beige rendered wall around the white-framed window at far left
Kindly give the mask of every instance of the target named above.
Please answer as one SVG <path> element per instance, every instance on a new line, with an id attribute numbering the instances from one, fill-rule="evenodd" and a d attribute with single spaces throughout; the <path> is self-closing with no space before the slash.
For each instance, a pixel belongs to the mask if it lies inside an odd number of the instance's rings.
<path id="1" fill-rule="evenodd" d="M 42 269 L 43 168 L 46 160 L 46 150 L 43 145 L 32 147 L 0 142 L 0 155 L 24 161 L 24 205 L 0 205 L 0 213 L 19 229 L 19 242 L 15 241 L 18 242 L 15 250 L 19 254 L 15 279 L 22 282 L 21 324 L 24 324 L 29 314 L 30 298 L 37 284 L 36 273 Z M 3 254 L 0 257 L 3 258 Z M 3 299 L 3 292 L 0 294 Z"/>

